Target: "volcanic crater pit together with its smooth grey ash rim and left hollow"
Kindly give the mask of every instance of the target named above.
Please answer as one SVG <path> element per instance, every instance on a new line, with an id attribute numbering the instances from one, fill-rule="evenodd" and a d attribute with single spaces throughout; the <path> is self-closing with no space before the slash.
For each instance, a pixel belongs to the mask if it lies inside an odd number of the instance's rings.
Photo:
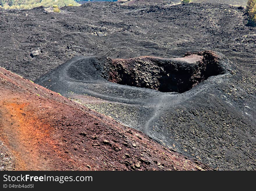
<path id="1" fill-rule="evenodd" d="M 36 82 L 66 97 L 74 92 L 131 103 L 149 94 L 157 97 L 161 93 L 184 93 L 211 76 L 225 74 L 227 63 L 213 51 L 186 52 L 180 58 L 78 56 Z"/>

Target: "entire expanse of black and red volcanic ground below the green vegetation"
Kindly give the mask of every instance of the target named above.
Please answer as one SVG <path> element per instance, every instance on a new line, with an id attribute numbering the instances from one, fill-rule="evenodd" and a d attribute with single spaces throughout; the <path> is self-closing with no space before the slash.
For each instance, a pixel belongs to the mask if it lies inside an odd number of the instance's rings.
<path id="1" fill-rule="evenodd" d="M 95 2 L 0 19 L 1 169 L 256 169 L 244 9 Z"/>

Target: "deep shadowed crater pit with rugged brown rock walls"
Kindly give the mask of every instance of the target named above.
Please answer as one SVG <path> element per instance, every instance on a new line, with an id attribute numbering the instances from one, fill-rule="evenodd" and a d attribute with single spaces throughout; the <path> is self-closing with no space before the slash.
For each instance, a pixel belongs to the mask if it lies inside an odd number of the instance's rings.
<path id="1" fill-rule="evenodd" d="M 225 73 L 218 56 L 211 51 L 187 53 L 184 58 L 115 59 L 104 70 L 104 77 L 114 83 L 179 93 L 210 76 Z"/>

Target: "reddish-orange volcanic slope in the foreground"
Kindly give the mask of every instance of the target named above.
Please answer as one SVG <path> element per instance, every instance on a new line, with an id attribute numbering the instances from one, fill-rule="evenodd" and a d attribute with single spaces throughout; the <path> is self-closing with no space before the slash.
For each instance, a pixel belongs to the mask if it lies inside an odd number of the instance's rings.
<path id="1" fill-rule="evenodd" d="M 0 148 L 7 150 L 6 158 L 11 156 L 14 170 L 205 169 L 139 131 L 3 68 L 0 98 Z M 10 169 L 0 162 L 1 169 Z"/>

